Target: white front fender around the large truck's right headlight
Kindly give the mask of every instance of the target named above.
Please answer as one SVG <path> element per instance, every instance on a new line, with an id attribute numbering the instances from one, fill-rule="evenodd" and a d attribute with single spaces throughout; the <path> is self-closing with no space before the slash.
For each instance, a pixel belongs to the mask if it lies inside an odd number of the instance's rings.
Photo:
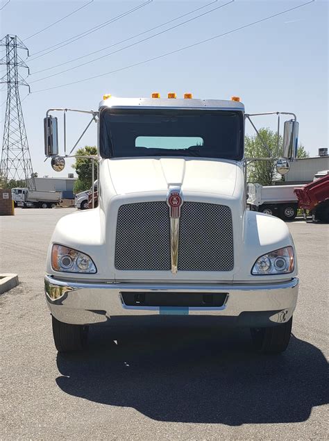
<path id="1" fill-rule="evenodd" d="M 237 271 L 234 281 L 282 281 L 296 277 L 298 273 L 296 250 L 289 228 L 278 217 L 264 215 L 257 211 L 246 210 L 243 217 L 243 242 L 237 260 Z M 251 269 L 255 261 L 263 254 L 283 247 L 294 247 L 295 267 L 289 274 L 273 274 L 272 276 L 252 275 Z"/>

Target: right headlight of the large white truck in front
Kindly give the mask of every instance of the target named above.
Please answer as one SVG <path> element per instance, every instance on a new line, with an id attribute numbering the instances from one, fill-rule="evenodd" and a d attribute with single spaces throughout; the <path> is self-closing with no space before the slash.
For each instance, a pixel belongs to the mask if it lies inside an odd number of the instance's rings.
<path id="1" fill-rule="evenodd" d="M 295 267 L 295 256 L 293 247 L 285 247 L 271 251 L 271 253 L 260 256 L 251 274 L 269 275 L 269 274 L 287 274 L 293 272 Z"/>

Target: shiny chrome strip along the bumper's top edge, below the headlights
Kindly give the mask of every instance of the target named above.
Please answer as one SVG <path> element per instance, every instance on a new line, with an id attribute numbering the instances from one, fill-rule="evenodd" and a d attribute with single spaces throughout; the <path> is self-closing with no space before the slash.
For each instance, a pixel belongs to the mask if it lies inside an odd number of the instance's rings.
<path id="1" fill-rule="evenodd" d="M 235 283 L 235 284 L 192 284 L 192 283 L 93 283 L 89 282 L 74 282 L 64 281 L 53 278 L 53 276 L 46 275 L 44 277 L 45 283 L 51 285 L 69 287 L 71 290 L 81 289 L 104 289 L 104 290 L 142 290 L 142 291 L 191 291 L 191 292 L 232 292 L 232 291 L 260 291 L 260 290 L 278 290 L 295 288 L 298 285 L 298 278 L 294 277 L 285 282 L 268 282 L 268 283 Z"/>

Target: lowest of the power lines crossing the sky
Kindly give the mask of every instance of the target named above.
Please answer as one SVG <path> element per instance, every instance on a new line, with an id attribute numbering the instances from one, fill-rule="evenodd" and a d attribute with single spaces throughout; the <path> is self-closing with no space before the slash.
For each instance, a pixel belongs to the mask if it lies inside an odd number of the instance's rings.
<path id="1" fill-rule="evenodd" d="M 35 92 L 31 92 L 31 93 L 45 92 L 46 90 L 53 90 L 53 89 L 58 89 L 58 88 L 64 88 L 67 85 L 83 83 L 83 81 L 93 80 L 94 78 L 100 78 L 101 76 L 106 76 L 106 75 L 109 75 L 109 74 L 115 74 L 116 72 L 121 72 L 123 70 L 130 69 L 131 67 L 140 66 L 140 65 L 143 65 L 145 63 L 150 63 L 151 61 L 158 60 L 160 58 L 172 55 L 173 53 L 178 53 L 178 52 L 181 52 L 181 51 L 185 51 L 186 49 L 190 49 L 192 47 L 199 46 L 200 44 L 203 44 L 203 43 L 206 43 L 206 42 L 210 42 L 212 40 L 216 40 L 217 38 L 221 38 L 221 37 L 223 37 L 225 35 L 228 35 L 228 34 L 231 34 L 231 33 L 237 32 L 237 31 L 241 31 L 242 29 L 248 28 L 250 26 L 254 26 L 255 24 L 266 22 L 267 20 L 272 19 L 274 17 L 278 17 L 279 15 L 289 13 L 292 10 L 296 10 L 296 9 L 302 8 L 303 6 L 306 6 L 306 5 L 310 4 L 310 3 L 314 3 L 314 1 L 315 0 L 307 1 L 306 3 L 303 3 L 301 5 L 294 6 L 294 8 L 289 8 L 289 9 L 286 9 L 286 10 L 282 10 L 280 13 L 269 15 L 268 17 L 264 17 L 262 19 L 256 20 L 255 22 L 251 22 L 251 23 L 245 24 L 244 26 L 239 26 L 239 28 L 232 29 L 231 31 L 227 31 L 227 32 L 219 34 L 219 35 L 214 35 L 214 37 L 207 38 L 205 40 L 202 40 L 200 42 L 196 42 L 194 44 L 189 44 L 188 46 L 181 47 L 180 49 L 175 49 L 174 51 L 170 51 L 170 52 L 167 52 L 167 53 L 162 53 L 162 55 L 158 55 L 158 56 L 155 56 L 153 58 L 149 58 L 147 60 L 140 61 L 139 63 L 134 63 L 133 65 L 128 65 L 128 66 L 125 66 L 125 67 L 121 67 L 119 69 L 115 69 L 115 70 L 112 70 L 110 72 L 105 72 L 104 74 L 99 74 L 99 75 L 90 76 L 88 78 L 83 78 L 82 80 L 72 81 L 71 83 L 56 85 L 56 86 L 53 86 L 51 88 L 35 90 Z"/>

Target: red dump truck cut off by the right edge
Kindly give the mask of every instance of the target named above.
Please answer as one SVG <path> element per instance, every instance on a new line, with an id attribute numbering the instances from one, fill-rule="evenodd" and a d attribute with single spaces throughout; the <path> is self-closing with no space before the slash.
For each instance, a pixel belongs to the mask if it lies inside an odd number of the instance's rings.
<path id="1" fill-rule="evenodd" d="M 294 193 L 298 198 L 298 207 L 306 210 L 312 218 L 321 222 L 329 222 L 329 175 L 314 180 L 303 188 L 295 188 Z"/>

